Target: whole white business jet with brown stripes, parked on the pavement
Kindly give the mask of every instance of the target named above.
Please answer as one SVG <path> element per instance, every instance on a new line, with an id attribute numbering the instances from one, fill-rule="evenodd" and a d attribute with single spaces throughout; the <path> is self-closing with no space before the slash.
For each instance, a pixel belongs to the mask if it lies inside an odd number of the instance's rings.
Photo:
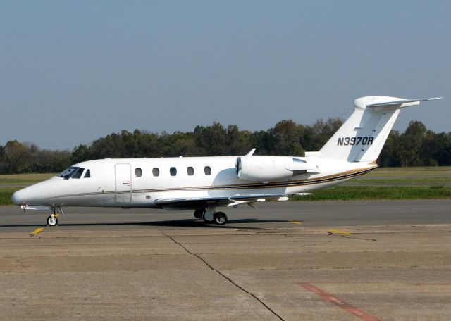
<path id="1" fill-rule="evenodd" d="M 23 210 L 50 210 L 58 224 L 63 206 L 194 210 L 216 225 L 228 218 L 218 207 L 287 201 L 332 187 L 377 167 L 376 159 L 401 108 L 430 99 L 367 96 L 320 151 L 299 156 L 122 158 L 89 160 L 12 196 Z"/>

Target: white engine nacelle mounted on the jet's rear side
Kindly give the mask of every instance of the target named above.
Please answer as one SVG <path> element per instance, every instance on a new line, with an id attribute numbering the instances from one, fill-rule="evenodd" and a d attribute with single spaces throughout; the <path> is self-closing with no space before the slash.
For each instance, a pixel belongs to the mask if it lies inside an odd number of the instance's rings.
<path id="1" fill-rule="evenodd" d="M 284 180 L 307 172 L 317 172 L 316 165 L 306 160 L 285 156 L 241 156 L 235 169 L 242 180 L 271 182 Z"/>

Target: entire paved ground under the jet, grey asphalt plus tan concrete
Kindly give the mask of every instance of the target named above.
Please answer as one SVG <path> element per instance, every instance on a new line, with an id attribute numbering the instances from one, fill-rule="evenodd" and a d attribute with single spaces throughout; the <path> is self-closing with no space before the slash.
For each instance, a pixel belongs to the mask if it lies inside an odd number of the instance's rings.
<path id="1" fill-rule="evenodd" d="M 259 207 L 0 207 L 0 320 L 451 319 L 451 201 Z"/>

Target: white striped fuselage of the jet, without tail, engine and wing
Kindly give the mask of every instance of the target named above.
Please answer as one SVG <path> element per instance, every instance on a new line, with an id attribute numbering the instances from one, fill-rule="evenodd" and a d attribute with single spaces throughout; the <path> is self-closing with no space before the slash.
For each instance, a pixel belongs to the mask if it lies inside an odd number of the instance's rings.
<path id="1" fill-rule="evenodd" d="M 374 164 L 323 158 L 299 159 L 314 161 L 320 172 L 272 182 L 249 182 L 237 176 L 237 156 L 89 160 L 70 167 L 81 171 L 79 175 L 56 176 L 22 189 L 14 194 L 13 202 L 33 206 L 161 208 L 156 203 L 159 199 L 305 193 L 340 184 L 376 168 Z M 89 177 L 85 177 L 88 170 Z"/>

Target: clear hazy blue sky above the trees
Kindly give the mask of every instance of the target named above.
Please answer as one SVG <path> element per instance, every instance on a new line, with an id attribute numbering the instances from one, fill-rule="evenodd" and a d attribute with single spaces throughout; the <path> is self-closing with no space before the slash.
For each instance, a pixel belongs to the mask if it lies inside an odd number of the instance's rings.
<path id="1" fill-rule="evenodd" d="M 311 124 L 359 96 L 450 132 L 451 1 L 1 1 L 0 144 Z"/>

